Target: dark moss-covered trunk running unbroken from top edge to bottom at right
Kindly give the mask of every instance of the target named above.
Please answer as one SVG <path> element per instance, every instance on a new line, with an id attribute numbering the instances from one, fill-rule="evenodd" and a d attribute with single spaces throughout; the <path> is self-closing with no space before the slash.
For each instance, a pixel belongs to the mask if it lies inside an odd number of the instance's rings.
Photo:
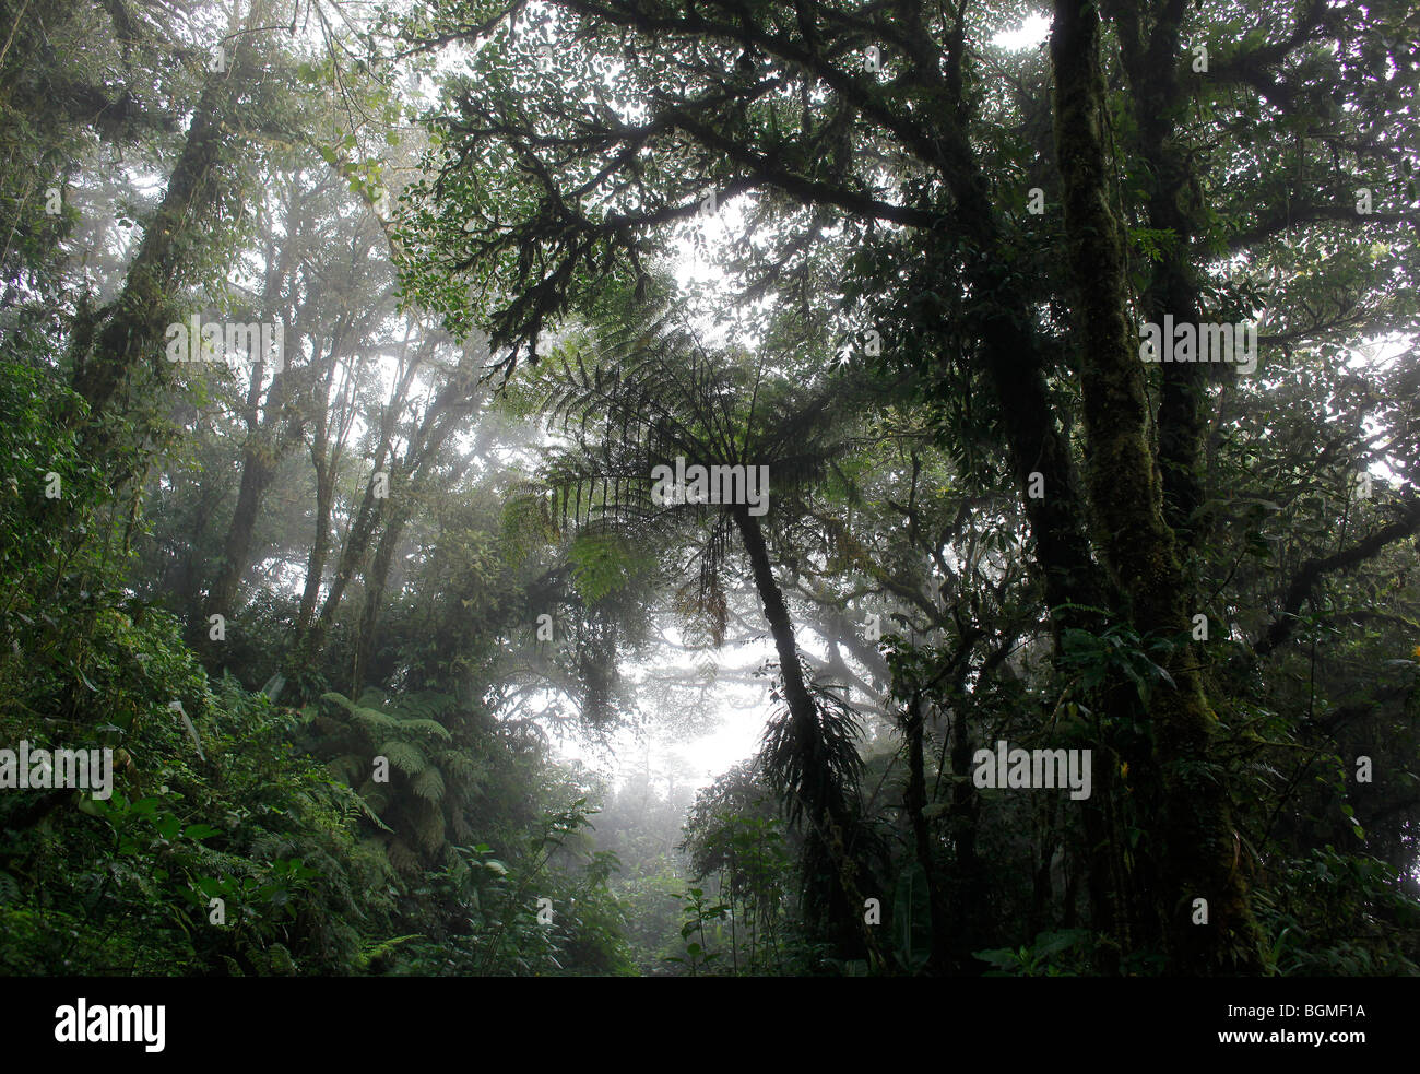
<path id="1" fill-rule="evenodd" d="M 1098 34 L 1093 4 L 1056 0 L 1051 38 L 1056 145 L 1069 267 L 1079 294 L 1086 477 L 1099 544 L 1132 600 L 1133 625 L 1140 635 L 1172 639 L 1189 634 L 1187 592 L 1149 449 L 1149 408 L 1130 338 L 1123 244 L 1108 202 Z M 1257 972 L 1258 932 L 1237 869 L 1227 786 L 1211 750 L 1214 717 L 1189 646 L 1180 645 L 1166 666 L 1176 688 L 1160 683 L 1153 693 L 1149 722 L 1154 757 L 1147 779 L 1162 791 L 1162 882 L 1154 899 L 1170 967 L 1196 975 Z M 1193 923 L 1200 898 L 1207 899 L 1207 925 Z"/>

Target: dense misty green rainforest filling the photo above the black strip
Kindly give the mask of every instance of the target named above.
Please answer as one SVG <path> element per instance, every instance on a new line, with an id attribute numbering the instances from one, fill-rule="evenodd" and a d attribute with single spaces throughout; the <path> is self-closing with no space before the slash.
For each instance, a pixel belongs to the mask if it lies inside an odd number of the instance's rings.
<path id="1" fill-rule="evenodd" d="M 0 973 L 1420 973 L 1416 40 L 0 0 Z"/>

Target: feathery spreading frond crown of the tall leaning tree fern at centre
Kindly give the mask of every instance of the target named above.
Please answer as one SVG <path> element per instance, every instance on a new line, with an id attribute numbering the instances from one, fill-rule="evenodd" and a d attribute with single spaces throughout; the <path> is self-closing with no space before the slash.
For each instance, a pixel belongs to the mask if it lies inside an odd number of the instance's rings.
<path id="1" fill-rule="evenodd" d="M 726 625 L 723 571 L 736 548 L 730 506 L 652 501 L 656 466 L 767 466 L 775 496 L 824 480 L 849 446 L 839 432 L 842 385 L 812 391 L 770 384 L 763 362 L 743 352 L 709 352 L 674 308 L 602 330 L 544 362 L 530 391 L 564 443 L 548 450 L 540 484 L 525 487 L 520 517 L 545 517 L 571 530 L 568 550 L 579 591 L 605 595 L 628 547 L 670 547 L 689 537 L 694 600 L 677 608 L 709 626 L 716 645 Z M 541 510 L 528 500 L 544 497 Z M 696 536 L 690 536 L 696 533 Z"/>

